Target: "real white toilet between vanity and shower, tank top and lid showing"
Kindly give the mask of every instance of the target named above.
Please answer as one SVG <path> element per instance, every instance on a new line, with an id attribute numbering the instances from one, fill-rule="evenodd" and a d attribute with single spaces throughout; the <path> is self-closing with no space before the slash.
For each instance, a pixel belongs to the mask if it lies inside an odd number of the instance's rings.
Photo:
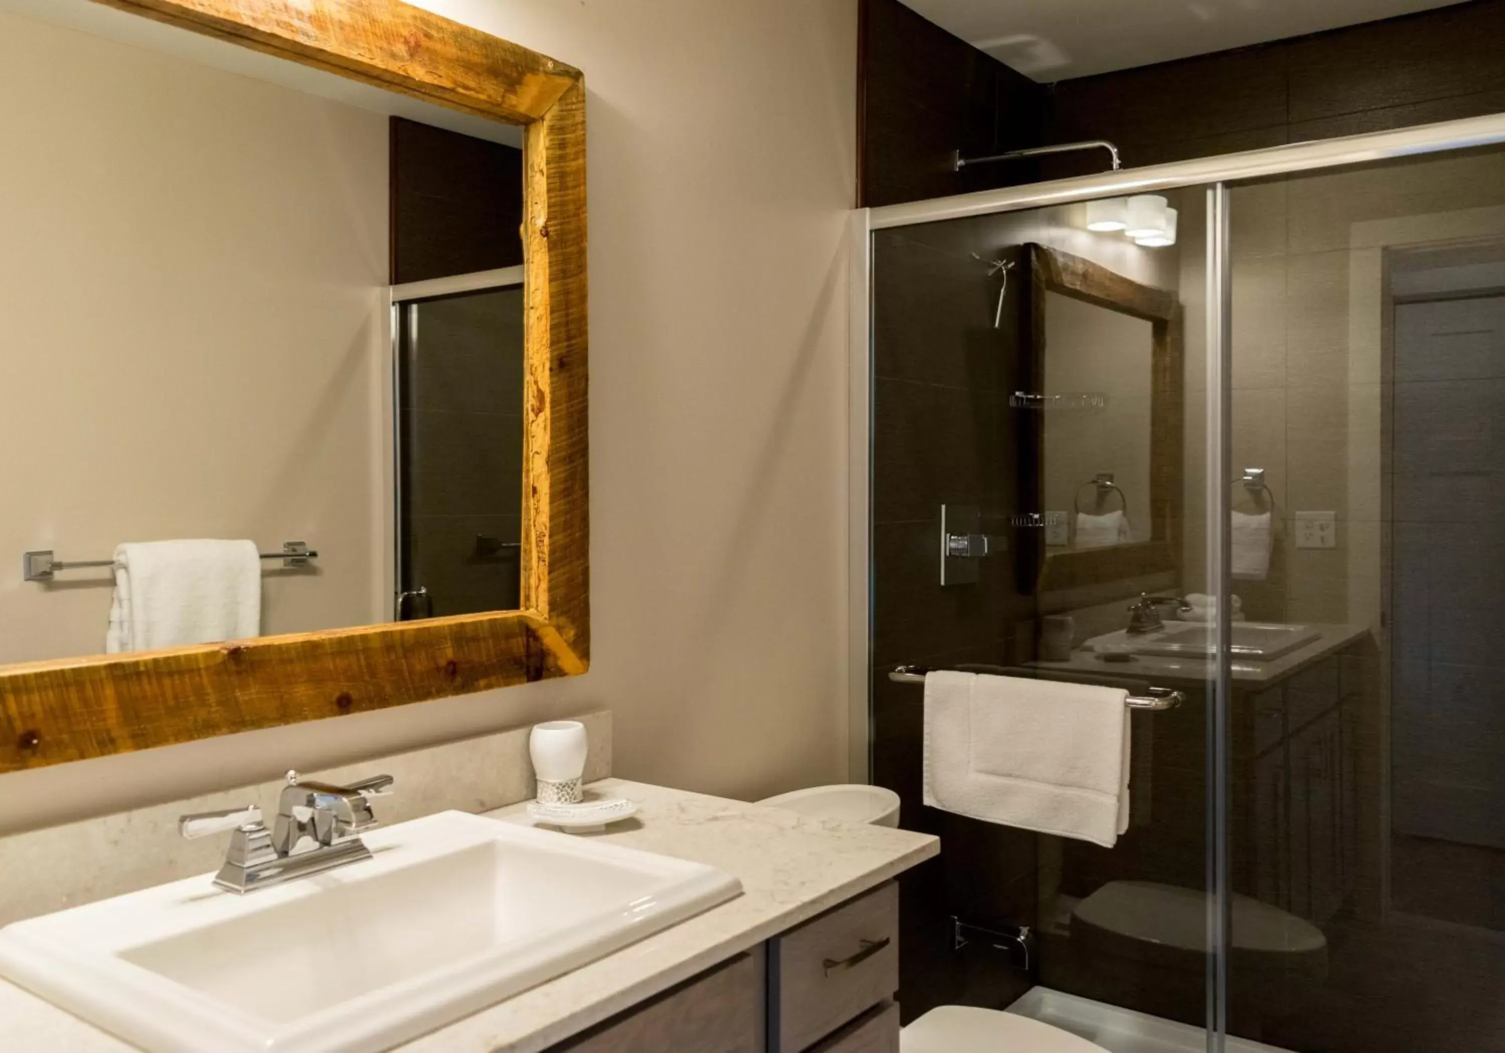
<path id="1" fill-rule="evenodd" d="M 898 794 L 883 787 L 832 785 L 781 793 L 757 802 L 847 823 L 898 826 Z M 900 1053 L 1103 1053 L 1085 1038 L 998 1009 L 942 1005 L 898 1035 Z"/>

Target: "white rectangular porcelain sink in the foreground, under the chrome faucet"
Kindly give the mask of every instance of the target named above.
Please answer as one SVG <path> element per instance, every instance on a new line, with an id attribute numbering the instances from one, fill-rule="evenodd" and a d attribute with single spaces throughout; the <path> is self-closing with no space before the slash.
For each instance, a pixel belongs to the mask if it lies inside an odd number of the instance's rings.
<path id="1" fill-rule="evenodd" d="M 0 930 L 0 975 L 169 1053 L 366 1053 L 736 897 L 713 866 L 439 812 L 238 897 L 191 877 Z"/>

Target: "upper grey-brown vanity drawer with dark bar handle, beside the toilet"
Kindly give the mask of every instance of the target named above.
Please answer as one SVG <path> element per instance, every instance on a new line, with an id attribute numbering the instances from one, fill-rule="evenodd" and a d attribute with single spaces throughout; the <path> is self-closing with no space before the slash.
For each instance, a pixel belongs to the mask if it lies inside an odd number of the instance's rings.
<path id="1" fill-rule="evenodd" d="M 769 1053 L 801 1053 L 898 990 L 889 882 L 768 943 Z"/>

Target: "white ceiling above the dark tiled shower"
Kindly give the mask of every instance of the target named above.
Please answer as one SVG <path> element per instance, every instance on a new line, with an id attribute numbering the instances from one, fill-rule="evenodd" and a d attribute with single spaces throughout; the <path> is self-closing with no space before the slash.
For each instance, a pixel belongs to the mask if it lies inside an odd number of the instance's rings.
<path id="1" fill-rule="evenodd" d="M 1460 0 L 903 0 L 1049 83 L 1370 23 Z"/>

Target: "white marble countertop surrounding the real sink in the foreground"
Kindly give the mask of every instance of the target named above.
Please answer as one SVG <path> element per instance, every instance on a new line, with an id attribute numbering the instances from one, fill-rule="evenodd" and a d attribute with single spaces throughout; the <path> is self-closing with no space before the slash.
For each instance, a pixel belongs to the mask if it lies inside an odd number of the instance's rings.
<path id="1" fill-rule="evenodd" d="M 403 1053 L 536 1053 L 740 954 L 935 856 L 924 833 L 858 826 L 604 779 L 591 791 L 631 797 L 634 820 L 599 836 L 710 863 L 742 880 L 742 895 L 613 955 L 396 1048 Z M 528 823 L 524 805 L 486 812 Z M 134 1045 L 0 981 L 6 1053 L 131 1053 Z"/>

